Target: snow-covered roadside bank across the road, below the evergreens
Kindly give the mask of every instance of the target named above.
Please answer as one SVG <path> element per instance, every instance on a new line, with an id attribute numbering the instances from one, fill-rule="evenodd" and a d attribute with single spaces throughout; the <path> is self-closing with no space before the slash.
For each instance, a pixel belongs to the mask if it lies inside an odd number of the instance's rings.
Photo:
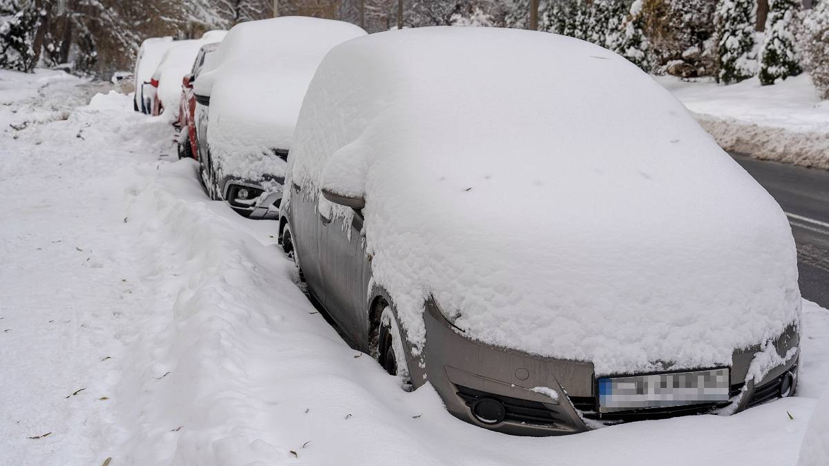
<path id="1" fill-rule="evenodd" d="M 803 73 L 775 85 L 734 85 L 655 76 L 696 116 L 720 147 L 755 158 L 829 169 L 829 100 Z"/>

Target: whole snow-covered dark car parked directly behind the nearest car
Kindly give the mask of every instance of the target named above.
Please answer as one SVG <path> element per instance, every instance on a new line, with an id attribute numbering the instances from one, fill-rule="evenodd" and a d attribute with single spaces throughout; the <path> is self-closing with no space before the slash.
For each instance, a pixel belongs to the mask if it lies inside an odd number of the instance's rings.
<path id="1" fill-rule="evenodd" d="M 243 216 L 277 218 L 285 158 L 305 90 L 333 46 L 366 32 L 347 22 L 277 17 L 230 29 L 195 82 L 201 179 Z"/>

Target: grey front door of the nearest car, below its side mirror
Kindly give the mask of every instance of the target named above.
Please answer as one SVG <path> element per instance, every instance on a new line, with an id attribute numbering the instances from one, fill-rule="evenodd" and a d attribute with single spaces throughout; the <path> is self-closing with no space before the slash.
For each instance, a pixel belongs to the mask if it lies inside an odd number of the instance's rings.
<path id="1" fill-rule="evenodd" d="M 325 209 L 323 209 L 325 211 Z M 322 226 L 320 265 L 325 285 L 325 307 L 352 342 L 363 341 L 366 284 L 366 253 L 361 236 L 361 211 L 348 209 L 347 215 L 327 219 L 319 214 Z"/>

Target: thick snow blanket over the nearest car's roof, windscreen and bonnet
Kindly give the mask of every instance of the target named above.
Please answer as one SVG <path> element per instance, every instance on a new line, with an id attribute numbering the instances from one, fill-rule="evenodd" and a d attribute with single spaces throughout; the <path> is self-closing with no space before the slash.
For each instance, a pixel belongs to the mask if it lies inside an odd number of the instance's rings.
<path id="1" fill-rule="evenodd" d="M 468 337 L 599 375 L 729 365 L 799 323 L 783 211 L 599 46 L 457 27 L 349 41 L 295 137 L 294 182 L 365 195 L 374 279 L 420 347 L 429 295 Z"/>

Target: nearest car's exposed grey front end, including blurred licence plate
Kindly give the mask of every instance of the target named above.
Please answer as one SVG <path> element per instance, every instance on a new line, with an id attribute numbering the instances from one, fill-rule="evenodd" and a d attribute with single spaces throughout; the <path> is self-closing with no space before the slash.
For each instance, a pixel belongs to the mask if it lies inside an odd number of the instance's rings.
<path id="1" fill-rule="evenodd" d="M 478 342 L 444 317 L 434 300 L 425 307 L 425 368 L 419 357 L 410 361 L 413 381 L 428 380 L 459 419 L 505 434 L 574 434 L 635 420 L 732 414 L 792 396 L 797 387 L 794 325 L 768 342 L 766 352 L 763 345 L 735 349 L 730 366 L 665 365 L 652 373 L 596 376 L 592 362 Z"/>

